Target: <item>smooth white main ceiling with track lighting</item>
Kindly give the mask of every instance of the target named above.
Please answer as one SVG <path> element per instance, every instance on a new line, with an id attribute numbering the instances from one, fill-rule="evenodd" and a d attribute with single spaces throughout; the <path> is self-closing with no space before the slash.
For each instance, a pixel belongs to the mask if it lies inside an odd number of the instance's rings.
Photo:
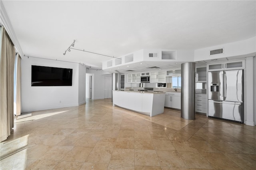
<path id="1" fill-rule="evenodd" d="M 256 1 L 2 0 L 25 55 L 102 67 L 139 49 L 200 49 L 256 36 Z"/>

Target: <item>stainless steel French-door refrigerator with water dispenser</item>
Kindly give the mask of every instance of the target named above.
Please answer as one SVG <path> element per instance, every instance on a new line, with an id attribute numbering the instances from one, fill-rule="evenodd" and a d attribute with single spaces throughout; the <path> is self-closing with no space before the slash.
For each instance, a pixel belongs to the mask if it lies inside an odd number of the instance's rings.
<path id="1" fill-rule="evenodd" d="M 243 70 L 208 72 L 208 116 L 243 123 Z"/>

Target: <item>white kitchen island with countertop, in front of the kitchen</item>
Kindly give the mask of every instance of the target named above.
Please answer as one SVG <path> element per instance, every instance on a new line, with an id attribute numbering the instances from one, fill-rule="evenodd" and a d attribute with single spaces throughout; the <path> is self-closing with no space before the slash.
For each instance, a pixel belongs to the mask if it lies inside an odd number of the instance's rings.
<path id="1" fill-rule="evenodd" d="M 164 113 L 165 92 L 113 90 L 113 106 L 123 107 L 150 117 Z"/>

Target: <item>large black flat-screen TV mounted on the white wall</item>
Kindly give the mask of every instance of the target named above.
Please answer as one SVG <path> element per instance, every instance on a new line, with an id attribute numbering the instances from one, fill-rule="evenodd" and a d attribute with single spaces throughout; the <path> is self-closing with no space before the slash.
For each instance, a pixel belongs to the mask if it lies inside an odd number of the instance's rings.
<path id="1" fill-rule="evenodd" d="M 32 65 L 31 86 L 72 86 L 72 69 Z"/>

